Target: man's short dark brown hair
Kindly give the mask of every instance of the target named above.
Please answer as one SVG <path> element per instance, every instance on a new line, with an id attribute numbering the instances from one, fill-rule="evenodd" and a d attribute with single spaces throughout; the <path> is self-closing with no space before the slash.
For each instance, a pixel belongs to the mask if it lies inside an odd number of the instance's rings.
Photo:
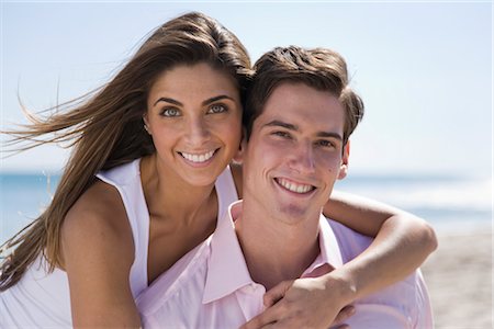
<path id="1" fill-rule="evenodd" d="M 345 109 L 344 144 L 362 120 L 363 102 L 349 87 L 347 64 L 336 52 L 326 48 L 277 47 L 262 55 L 254 65 L 254 70 L 243 115 L 247 140 L 269 97 L 284 82 L 304 83 L 328 91 L 339 99 Z"/>

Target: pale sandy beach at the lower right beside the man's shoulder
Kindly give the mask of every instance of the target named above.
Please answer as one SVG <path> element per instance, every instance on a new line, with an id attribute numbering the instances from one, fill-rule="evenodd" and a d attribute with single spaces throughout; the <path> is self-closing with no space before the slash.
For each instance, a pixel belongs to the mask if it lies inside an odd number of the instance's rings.
<path id="1" fill-rule="evenodd" d="M 436 328 L 493 328 L 491 227 L 438 237 L 422 266 Z"/>

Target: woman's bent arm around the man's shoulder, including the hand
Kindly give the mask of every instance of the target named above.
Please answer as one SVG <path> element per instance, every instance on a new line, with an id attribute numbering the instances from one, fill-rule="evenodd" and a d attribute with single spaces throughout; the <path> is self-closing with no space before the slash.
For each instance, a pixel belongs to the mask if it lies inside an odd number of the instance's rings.
<path id="1" fill-rule="evenodd" d="M 325 275 L 280 283 L 265 295 L 268 309 L 245 328 L 268 324 L 270 328 L 327 328 L 346 305 L 405 279 L 437 248 L 434 229 L 425 220 L 368 198 L 334 192 L 324 214 L 374 236 L 373 242 Z"/>

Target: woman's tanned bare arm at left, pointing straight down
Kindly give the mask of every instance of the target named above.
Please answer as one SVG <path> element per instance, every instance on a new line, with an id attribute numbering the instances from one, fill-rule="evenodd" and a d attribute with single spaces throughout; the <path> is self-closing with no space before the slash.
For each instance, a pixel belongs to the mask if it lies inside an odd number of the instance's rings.
<path id="1" fill-rule="evenodd" d="M 138 328 L 128 273 L 132 230 L 113 186 L 98 182 L 72 206 L 61 227 L 64 269 L 75 328 Z"/>

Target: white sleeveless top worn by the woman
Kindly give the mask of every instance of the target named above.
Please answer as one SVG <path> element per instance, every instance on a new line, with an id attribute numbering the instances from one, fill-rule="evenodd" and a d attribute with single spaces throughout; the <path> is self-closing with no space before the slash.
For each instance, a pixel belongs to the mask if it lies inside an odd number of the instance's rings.
<path id="1" fill-rule="evenodd" d="M 98 173 L 98 178 L 115 186 L 123 200 L 135 246 L 130 283 L 134 298 L 147 287 L 147 249 L 149 213 L 141 184 L 139 161 Z M 237 201 L 229 167 L 217 178 L 218 216 Z M 42 258 L 30 265 L 21 281 L 0 293 L 0 328 L 71 328 L 70 296 L 67 273 L 60 269 L 47 273 Z"/>

